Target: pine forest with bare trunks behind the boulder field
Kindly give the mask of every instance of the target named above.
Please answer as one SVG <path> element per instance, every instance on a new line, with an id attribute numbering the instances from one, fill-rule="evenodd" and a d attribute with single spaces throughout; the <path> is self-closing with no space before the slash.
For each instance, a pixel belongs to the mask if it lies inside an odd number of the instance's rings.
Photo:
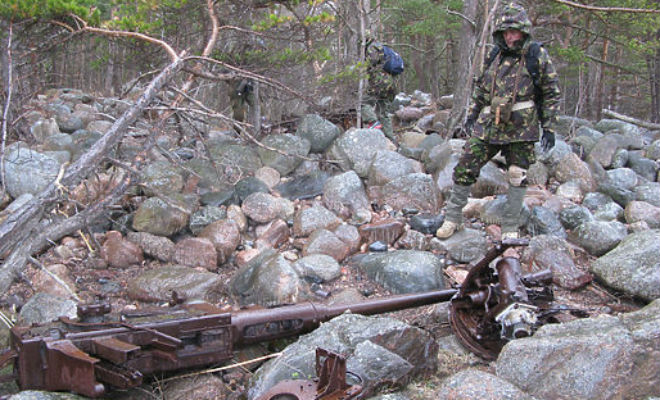
<path id="1" fill-rule="evenodd" d="M 502 3 L 507 0 L 502 1 Z M 519 1 L 561 78 L 563 112 L 610 109 L 660 121 L 660 2 Z M 228 112 L 226 82 L 259 82 L 261 120 L 355 109 L 365 37 L 406 60 L 401 91 L 455 94 L 460 123 L 487 54 L 499 0 L 4 0 L 0 65 L 5 136 L 22 139 L 20 106 L 48 88 L 127 96 L 185 51 L 185 87 Z M 185 86 L 182 86 L 185 85 Z M 10 101 L 7 101 L 7 100 Z M 5 125 L 3 124 L 3 125 Z M 26 133 L 25 133 L 26 134 Z"/>

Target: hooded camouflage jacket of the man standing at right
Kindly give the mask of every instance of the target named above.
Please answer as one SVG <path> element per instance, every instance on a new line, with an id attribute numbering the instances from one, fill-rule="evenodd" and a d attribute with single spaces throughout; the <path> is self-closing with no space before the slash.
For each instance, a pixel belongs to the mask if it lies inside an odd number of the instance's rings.
<path id="1" fill-rule="evenodd" d="M 537 141 L 539 139 L 539 119 L 544 130 L 554 131 L 559 113 L 560 91 L 557 73 L 548 52 L 541 47 L 538 52 L 539 87 L 534 87 L 532 77 L 524 66 L 525 54 L 532 43 L 531 22 L 519 6 L 505 7 L 493 33 L 495 43 L 500 46 L 500 54 L 487 65 L 477 79 L 472 93 L 472 104 L 468 120 L 474 123 L 472 136 L 493 144 Z M 523 32 L 523 39 L 513 49 L 507 47 L 503 33 L 507 29 Z M 533 106 L 511 112 L 507 122 L 496 124 L 494 98 L 513 100 L 517 84 L 515 103 L 521 106 L 534 101 Z M 494 87 L 493 87 L 494 86 Z M 538 94 L 536 94 L 538 93 Z"/>

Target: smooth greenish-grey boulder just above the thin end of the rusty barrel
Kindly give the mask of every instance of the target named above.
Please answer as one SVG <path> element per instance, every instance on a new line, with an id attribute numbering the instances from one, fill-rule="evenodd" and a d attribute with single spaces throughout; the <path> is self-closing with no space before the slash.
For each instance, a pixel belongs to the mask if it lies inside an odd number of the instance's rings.
<path id="1" fill-rule="evenodd" d="M 419 293 L 444 287 L 442 261 L 426 251 L 371 253 L 360 257 L 357 267 L 393 293 Z"/>

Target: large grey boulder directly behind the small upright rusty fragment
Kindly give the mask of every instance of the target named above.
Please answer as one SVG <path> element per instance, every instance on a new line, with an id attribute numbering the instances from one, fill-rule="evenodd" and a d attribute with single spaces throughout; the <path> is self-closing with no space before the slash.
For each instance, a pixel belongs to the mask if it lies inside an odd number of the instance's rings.
<path id="1" fill-rule="evenodd" d="M 300 337 L 278 358 L 264 364 L 250 380 L 248 399 L 254 399 L 285 379 L 312 379 L 316 348 L 343 354 L 346 369 L 358 374 L 363 393 L 402 386 L 433 372 L 437 344 L 432 336 L 390 318 L 343 314 Z"/>

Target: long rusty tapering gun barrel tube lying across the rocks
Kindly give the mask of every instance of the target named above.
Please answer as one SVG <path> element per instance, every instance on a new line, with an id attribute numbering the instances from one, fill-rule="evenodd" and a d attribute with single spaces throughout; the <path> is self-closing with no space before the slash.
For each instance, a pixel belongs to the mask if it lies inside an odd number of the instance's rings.
<path id="1" fill-rule="evenodd" d="M 244 345 L 311 332 L 320 323 L 347 311 L 360 315 L 375 315 L 449 301 L 457 292 L 456 289 L 435 290 L 369 299 L 351 304 L 325 305 L 309 302 L 242 310 L 232 313 L 231 316 L 233 343 Z"/>

